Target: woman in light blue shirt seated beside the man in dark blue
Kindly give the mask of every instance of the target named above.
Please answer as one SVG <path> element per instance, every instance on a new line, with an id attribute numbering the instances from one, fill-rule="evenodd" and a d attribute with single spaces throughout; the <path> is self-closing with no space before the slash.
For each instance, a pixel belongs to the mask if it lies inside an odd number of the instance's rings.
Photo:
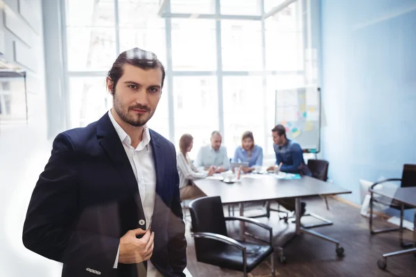
<path id="1" fill-rule="evenodd" d="M 253 133 L 247 131 L 241 137 L 241 146 L 234 152 L 232 163 L 248 162 L 248 167 L 243 168 L 244 172 L 252 172 L 254 166 L 262 166 L 263 149 L 254 144 Z"/>

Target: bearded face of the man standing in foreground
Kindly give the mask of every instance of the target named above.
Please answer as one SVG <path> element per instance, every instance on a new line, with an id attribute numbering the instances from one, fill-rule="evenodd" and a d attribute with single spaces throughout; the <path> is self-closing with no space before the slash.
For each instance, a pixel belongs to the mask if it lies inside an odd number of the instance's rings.
<path id="1" fill-rule="evenodd" d="M 113 107 L 119 117 L 132 126 L 143 126 L 155 114 L 159 103 L 162 70 L 144 70 L 125 64 L 116 87 L 110 78 L 107 78 L 107 87 L 113 91 Z"/>

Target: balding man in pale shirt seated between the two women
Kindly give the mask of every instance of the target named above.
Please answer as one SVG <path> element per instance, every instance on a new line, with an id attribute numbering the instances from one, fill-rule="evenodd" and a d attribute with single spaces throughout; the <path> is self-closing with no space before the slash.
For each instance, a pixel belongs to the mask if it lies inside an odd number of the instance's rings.
<path id="1" fill-rule="evenodd" d="M 229 169 L 229 158 L 227 148 L 221 146 L 223 138 L 218 131 L 211 134 L 211 145 L 200 148 L 196 155 L 195 166 L 203 167 L 208 170 L 211 166 L 215 167 L 215 172 L 220 173 Z"/>

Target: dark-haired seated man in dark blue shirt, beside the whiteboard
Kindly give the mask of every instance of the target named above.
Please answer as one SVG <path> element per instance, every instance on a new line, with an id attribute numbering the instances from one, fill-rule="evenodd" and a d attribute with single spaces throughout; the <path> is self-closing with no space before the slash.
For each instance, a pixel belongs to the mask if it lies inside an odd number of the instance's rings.
<path id="1" fill-rule="evenodd" d="M 277 125 L 272 129 L 273 148 L 276 153 L 276 164 L 268 170 L 279 168 L 282 172 L 312 176 L 311 170 L 306 166 L 302 148 L 286 137 L 286 129 L 283 125 Z M 280 199 L 277 202 L 288 211 L 295 211 L 295 199 Z M 302 202 L 303 215 L 306 211 L 306 203 Z"/>

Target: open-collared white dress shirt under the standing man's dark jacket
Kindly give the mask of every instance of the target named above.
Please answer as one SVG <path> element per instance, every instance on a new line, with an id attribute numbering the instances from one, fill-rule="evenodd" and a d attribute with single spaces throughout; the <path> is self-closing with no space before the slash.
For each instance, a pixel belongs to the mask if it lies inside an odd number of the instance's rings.
<path id="1" fill-rule="evenodd" d="M 150 133 L 148 127 L 145 125 L 143 130 L 143 136 L 141 142 L 137 145 L 137 148 L 133 148 L 130 136 L 123 130 L 123 128 L 116 122 L 114 116 L 112 116 L 111 110 L 108 111 L 108 116 L 114 129 L 120 137 L 121 143 L 125 154 L 127 154 L 128 160 L 132 166 L 132 170 L 135 173 L 137 180 L 137 186 L 139 186 L 139 193 L 141 204 L 143 206 L 144 216 L 146 217 L 146 229 L 149 229 L 152 224 L 153 209 L 155 208 L 155 197 L 156 197 L 156 172 L 155 172 L 155 161 L 153 161 L 153 152 L 150 145 Z M 116 260 L 113 268 L 117 268 L 119 263 L 119 250 L 117 251 Z M 157 276 L 158 271 L 155 266 L 147 261 L 148 274 L 147 276 Z"/>

